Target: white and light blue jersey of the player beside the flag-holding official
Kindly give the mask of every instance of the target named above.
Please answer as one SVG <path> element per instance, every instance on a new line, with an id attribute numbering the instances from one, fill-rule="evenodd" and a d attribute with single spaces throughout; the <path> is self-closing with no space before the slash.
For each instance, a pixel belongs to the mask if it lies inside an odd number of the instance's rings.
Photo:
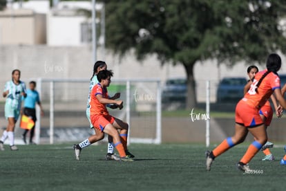
<path id="1" fill-rule="evenodd" d="M 26 93 L 26 85 L 24 82 L 19 82 L 15 84 L 12 80 L 6 82 L 4 91 L 9 91 L 6 99 L 6 104 L 14 109 L 19 109 L 21 107 L 21 93 Z"/>

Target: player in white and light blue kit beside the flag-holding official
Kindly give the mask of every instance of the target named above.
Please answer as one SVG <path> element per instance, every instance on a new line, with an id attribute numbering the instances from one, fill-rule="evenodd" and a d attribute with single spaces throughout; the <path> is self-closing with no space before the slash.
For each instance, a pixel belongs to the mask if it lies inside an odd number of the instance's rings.
<path id="1" fill-rule="evenodd" d="M 8 125 L 0 139 L 0 150 L 4 150 L 3 143 L 6 138 L 10 140 L 10 149 L 12 151 L 18 148 L 14 145 L 14 129 L 21 111 L 21 96 L 26 97 L 26 85 L 20 81 L 21 71 L 15 69 L 12 71 L 12 80 L 6 82 L 3 91 L 3 97 L 6 98 L 5 117 Z"/>

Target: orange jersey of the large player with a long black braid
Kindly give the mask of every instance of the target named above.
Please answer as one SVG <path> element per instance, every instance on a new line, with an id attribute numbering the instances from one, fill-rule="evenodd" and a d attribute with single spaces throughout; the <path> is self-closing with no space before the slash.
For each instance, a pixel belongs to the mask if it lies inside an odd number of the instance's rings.
<path id="1" fill-rule="evenodd" d="M 274 89 L 280 89 L 280 78 L 278 75 L 272 72 L 266 75 L 257 89 L 256 85 L 265 72 L 267 72 L 266 69 L 256 73 L 254 82 L 252 82 L 249 91 L 247 91 L 245 97 L 242 98 L 242 100 L 244 100 L 251 107 L 260 109 L 260 107 L 262 107 L 270 98 Z"/>

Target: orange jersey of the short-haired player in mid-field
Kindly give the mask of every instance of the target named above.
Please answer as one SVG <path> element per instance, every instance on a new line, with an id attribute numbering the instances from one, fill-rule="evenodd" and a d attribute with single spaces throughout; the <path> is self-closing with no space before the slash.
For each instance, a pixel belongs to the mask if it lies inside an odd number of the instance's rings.
<path id="1" fill-rule="evenodd" d="M 93 115 L 108 115 L 106 104 L 102 104 L 97 100 L 96 96 L 100 94 L 102 98 L 108 98 L 108 92 L 106 87 L 102 87 L 101 84 L 96 84 L 90 92 L 90 116 Z"/>

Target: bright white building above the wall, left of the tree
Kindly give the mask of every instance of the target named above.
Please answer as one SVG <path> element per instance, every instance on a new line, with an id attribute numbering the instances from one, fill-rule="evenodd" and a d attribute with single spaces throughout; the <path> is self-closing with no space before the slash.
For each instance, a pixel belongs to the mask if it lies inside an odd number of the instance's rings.
<path id="1" fill-rule="evenodd" d="M 90 44 L 91 18 L 79 10 L 92 11 L 91 1 L 62 1 L 57 3 L 47 16 L 48 46 L 83 46 Z M 102 4 L 97 3 L 97 11 Z M 96 20 L 97 25 L 100 19 Z M 100 34 L 97 34 L 99 36 Z"/>

